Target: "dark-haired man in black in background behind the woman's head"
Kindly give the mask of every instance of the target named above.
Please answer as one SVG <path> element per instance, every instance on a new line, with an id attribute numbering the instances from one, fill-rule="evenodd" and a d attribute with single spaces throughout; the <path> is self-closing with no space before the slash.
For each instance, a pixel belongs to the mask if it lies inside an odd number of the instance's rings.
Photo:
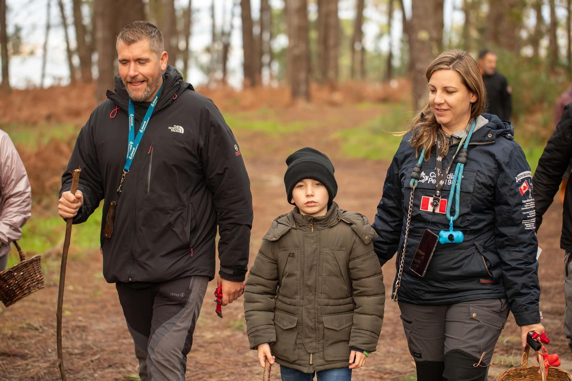
<path id="1" fill-rule="evenodd" d="M 484 88 L 487 90 L 487 104 L 484 112 L 495 114 L 502 120 L 510 120 L 513 116 L 513 101 L 509 82 L 505 76 L 496 71 L 496 53 L 482 50 L 479 53 L 480 74 L 483 76 Z"/>

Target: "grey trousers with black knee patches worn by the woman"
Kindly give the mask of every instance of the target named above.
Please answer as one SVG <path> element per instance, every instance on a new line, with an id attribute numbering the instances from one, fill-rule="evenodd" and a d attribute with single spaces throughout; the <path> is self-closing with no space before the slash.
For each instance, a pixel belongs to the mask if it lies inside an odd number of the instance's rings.
<path id="1" fill-rule="evenodd" d="M 509 316 L 506 299 L 451 305 L 399 301 L 399 308 L 418 381 L 486 381 Z"/>

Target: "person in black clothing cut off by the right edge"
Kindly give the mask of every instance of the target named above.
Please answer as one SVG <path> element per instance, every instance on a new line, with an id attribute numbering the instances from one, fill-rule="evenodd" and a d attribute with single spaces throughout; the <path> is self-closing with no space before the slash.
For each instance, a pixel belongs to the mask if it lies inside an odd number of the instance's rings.
<path id="1" fill-rule="evenodd" d="M 542 216 L 558 192 L 562 175 L 572 160 L 572 104 L 564 108 L 562 117 L 548 140 L 536 172 L 534 172 L 534 197 L 536 201 L 536 228 L 542 224 Z M 562 236 L 560 247 L 565 251 L 564 296 L 566 316 L 564 330 L 572 350 L 572 268 L 569 268 L 572 256 L 572 181 L 566 184 L 562 211 Z"/>

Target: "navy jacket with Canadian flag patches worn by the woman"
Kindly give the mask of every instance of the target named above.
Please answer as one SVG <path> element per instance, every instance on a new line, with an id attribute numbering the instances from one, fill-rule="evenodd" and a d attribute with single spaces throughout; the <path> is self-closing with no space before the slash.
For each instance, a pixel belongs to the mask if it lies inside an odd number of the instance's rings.
<path id="1" fill-rule="evenodd" d="M 430 209 L 427 205 L 435 193 L 433 153 L 428 162 L 422 162 L 423 172 L 415 188 L 398 298 L 412 304 L 447 305 L 507 297 L 519 326 L 540 323 L 538 242 L 534 234 L 530 166 L 522 148 L 513 140 L 510 122 L 492 114 L 482 114 L 478 121 L 484 125 L 472 134 L 468 145 L 460 213 L 453 225 L 454 230 L 463 232 L 464 241 L 437 244 L 424 277 L 411 271 L 411 261 L 425 229 L 435 234 L 449 229 L 445 205 L 436 212 L 424 210 Z M 398 271 L 411 199 L 411 172 L 418 162 L 410 138 L 411 133 L 404 136 L 387 170 L 383 197 L 372 225 L 378 233 L 374 249 L 380 263 L 383 265 L 397 252 Z M 448 165 L 456 148 L 451 146 L 443 158 L 443 167 Z M 448 199 L 455 166 L 456 163 L 447 176 L 442 200 Z"/>

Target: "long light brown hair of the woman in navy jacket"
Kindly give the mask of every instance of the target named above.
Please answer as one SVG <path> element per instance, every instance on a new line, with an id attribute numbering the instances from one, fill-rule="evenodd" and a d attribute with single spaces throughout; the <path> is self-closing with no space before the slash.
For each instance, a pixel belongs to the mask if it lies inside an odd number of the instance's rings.
<path id="1" fill-rule="evenodd" d="M 443 51 L 427 68 L 425 73 L 427 81 L 430 80 L 436 70 L 444 69 L 455 70 L 459 73 L 467 89 L 478 97 L 476 102 L 471 104 L 471 119 L 482 114 L 486 104 L 486 90 L 479 66 L 471 55 L 460 49 Z M 415 115 L 407 132 L 412 132 L 410 144 L 415 148 L 415 156 L 419 155 L 420 149 L 425 148 L 424 160 L 426 161 L 431 157 L 431 150 L 435 146 L 437 134 L 441 134 L 442 141 L 446 140 L 445 133 L 431 111 L 430 104 L 427 104 L 423 110 Z M 443 156 L 447 155 L 448 149 L 448 144 L 443 144 Z"/>

